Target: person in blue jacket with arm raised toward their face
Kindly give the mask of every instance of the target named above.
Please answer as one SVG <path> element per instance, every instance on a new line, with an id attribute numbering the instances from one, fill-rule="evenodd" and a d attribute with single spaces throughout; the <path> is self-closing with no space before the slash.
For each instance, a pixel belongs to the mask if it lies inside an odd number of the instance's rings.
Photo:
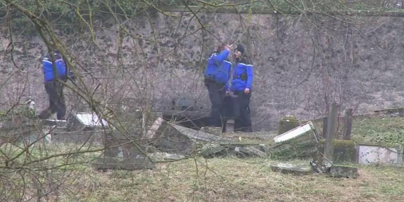
<path id="1" fill-rule="evenodd" d="M 212 103 L 210 114 L 211 126 L 222 126 L 222 108 L 228 82 L 230 78 L 231 63 L 227 61 L 232 45 L 219 45 L 217 50 L 209 57 L 204 74 L 205 86 L 208 88 L 209 99 Z"/>

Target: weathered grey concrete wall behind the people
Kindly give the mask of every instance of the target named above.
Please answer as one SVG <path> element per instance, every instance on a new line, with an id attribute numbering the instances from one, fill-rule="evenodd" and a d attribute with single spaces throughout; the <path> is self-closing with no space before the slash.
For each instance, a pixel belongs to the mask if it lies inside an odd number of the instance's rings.
<path id="1" fill-rule="evenodd" d="M 198 19 L 191 13 L 172 14 L 179 17 L 133 18 L 123 24 L 130 34 L 119 34 L 112 20 L 97 22 L 95 41 L 89 33 L 59 33 L 77 57 L 86 85 L 94 89 L 100 84 L 96 92 L 105 102 L 134 97 L 139 105 L 162 109 L 175 97 L 191 96 L 209 109 L 202 74 L 220 39 L 244 43 L 255 65 L 251 116 L 256 130 L 276 129 L 288 114 L 320 117 L 333 100 L 356 113 L 402 106 L 404 18 L 352 17 L 364 23 L 349 25 L 272 14 L 200 13 Z M 22 95 L 44 108 L 43 42 L 17 33 L 11 52 L 8 30 L 0 29 L 0 82 L 10 77 L 0 88 L 1 107 Z M 23 71 L 13 65 L 11 53 Z M 69 100 L 71 106 L 77 102 L 74 95 Z"/>

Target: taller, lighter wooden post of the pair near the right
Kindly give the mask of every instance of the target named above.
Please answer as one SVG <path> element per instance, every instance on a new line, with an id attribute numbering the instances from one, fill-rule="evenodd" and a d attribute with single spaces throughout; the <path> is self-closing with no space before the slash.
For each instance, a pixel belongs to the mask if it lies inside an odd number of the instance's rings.
<path id="1" fill-rule="evenodd" d="M 334 157 L 334 139 L 337 130 L 338 104 L 333 102 L 330 107 L 327 123 L 327 135 L 325 138 L 324 156 L 332 162 Z"/>

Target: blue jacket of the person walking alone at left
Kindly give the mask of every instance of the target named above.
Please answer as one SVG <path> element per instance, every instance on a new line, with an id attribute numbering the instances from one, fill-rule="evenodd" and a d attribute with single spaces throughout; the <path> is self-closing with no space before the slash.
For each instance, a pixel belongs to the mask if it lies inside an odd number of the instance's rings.
<path id="1" fill-rule="evenodd" d="M 56 64 L 56 75 L 58 79 L 64 80 L 67 78 L 67 71 L 66 71 L 66 64 L 63 60 L 62 56 L 59 54 L 55 54 L 55 64 Z M 43 67 L 43 76 L 45 82 L 54 81 L 55 74 L 54 74 L 54 67 L 52 63 L 51 55 L 46 55 L 42 60 L 42 67 Z"/>

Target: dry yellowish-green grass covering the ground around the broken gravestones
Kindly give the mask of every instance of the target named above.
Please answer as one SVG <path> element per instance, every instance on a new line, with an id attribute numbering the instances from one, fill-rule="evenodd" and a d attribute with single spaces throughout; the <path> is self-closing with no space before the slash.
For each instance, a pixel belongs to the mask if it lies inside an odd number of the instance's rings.
<path id="1" fill-rule="evenodd" d="M 318 127 L 318 126 L 317 126 Z M 340 127 L 340 131 L 342 127 Z M 352 139 L 370 141 L 378 136 L 402 134 L 400 117 L 361 116 L 354 120 Z M 266 141 L 265 134 L 235 134 L 235 140 Z M 52 147 L 52 144 L 50 144 Z M 3 145 L 3 150 L 6 151 Z M 47 154 L 69 151 L 77 145 L 58 144 Z M 10 149 L 9 149 L 10 150 Z M 94 159 L 97 154 L 58 157 L 53 164 Z M 39 158 L 33 153 L 32 158 Z M 306 164 L 309 160 L 292 160 Z M 90 164 L 68 166 L 68 171 L 44 174 L 63 179 L 57 200 L 70 201 L 404 201 L 404 168 L 354 165 L 357 179 L 332 178 L 313 173 L 294 176 L 273 172 L 271 159 L 224 157 L 194 158 L 157 164 L 154 170 L 97 171 Z M 0 170 L 1 173 L 1 170 Z M 8 175 L 7 173 L 5 175 Z M 60 177 L 64 176 L 64 177 Z M 7 190 L 1 185 L 0 191 Z M 17 184 L 17 183 L 16 183 Z M 27 190 L 32 191 L 30 186 Z M 35 193 L 32 191 L 32 193 Z M 56 201 L 56 196 L 49 197 Z"/>

